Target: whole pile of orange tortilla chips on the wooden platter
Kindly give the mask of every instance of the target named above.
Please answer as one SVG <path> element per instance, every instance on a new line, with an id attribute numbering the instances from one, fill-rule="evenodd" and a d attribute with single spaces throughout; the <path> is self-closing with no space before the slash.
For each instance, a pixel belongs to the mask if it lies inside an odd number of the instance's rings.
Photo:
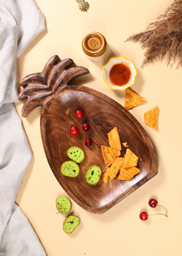
<path id="1" fill-rule="evenodd" d="M 101 145 L 101 152 L 106 165 L 106 172 L 102 175 L 102 181 L 108 182 L 108 179 L 132 180 L 133 177 L 140 173 L 137 168 L 138 157 L 128 148 L 127 142 L 123 143 L 127 147 L 124 158 L 120 157 L 122 146 L 120 144 L 120 136 L 118 128 L 114 127 L 107 134 L 110 146 Z"/>

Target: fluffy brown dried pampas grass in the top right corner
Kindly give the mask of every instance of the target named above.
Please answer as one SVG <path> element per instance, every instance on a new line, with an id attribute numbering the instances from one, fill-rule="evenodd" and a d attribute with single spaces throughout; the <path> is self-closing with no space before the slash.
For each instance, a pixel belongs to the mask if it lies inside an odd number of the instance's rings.
<path id="1" fill-rule="evenodd" d="M 146 31 L 128 37 L 127 41 L 140 43 L 142 49 L 146 49 L 141 67 L 152 64 L 158 57 L 163 60 L 165 56 L 167 65 L 179 57 L 177 68 L 182 67 L 182 0 L 174 0 Z"/>

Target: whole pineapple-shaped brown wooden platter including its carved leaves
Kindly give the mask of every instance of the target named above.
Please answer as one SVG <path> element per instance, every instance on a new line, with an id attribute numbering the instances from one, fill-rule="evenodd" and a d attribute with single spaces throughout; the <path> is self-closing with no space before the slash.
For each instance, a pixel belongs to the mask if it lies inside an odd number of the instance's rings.
<path id="1" fill-rule="evenodd" d="M 23 91 L 19 99 L 26 101 L 22 116 L 27 117 L 30 111 L 42 105 L 42 144 L 55 178 L 82 208 L 88 212 L 103 213 L 157 174 L 157 155 L 144 128 L 122 105 L 99 91 L 68 85 L 75 77 L 88 74 L 88 69 L 84 67 L 66 69 L 72 63 L 70 58 L 61 61 L 55 55 L 49 59 L 42 72 L 23 78 L 20 82 Z M 84 111 L 84 118 L 75 118 L 78 110 Z M 89 131 L 81 129 L 85 122 L 91 127 Z M 74 125 L 80 133 L 71 136 L 69 130 Z M 91 165 L 100 166 L 105 172 L 101 145 L 109 146 L 107 133 L 115 126 L 118 127 L 121 142 L 127 142 L 139 157 L 138 167 L 141 172 L 131 181 L 114 179 L 105 184 L 100 180 L 97 185 L 88 185 L 85 173 Z M 93 145 L 86 146 L 86 138 L 92 138 Z M 65 177 L 60 171 L 62 163 L 68 160 L 67 150 L 71 146 L 79 146 L 85 152 L 76 178 Z M 122 149 L 121 156 L 124 153 Z"/>

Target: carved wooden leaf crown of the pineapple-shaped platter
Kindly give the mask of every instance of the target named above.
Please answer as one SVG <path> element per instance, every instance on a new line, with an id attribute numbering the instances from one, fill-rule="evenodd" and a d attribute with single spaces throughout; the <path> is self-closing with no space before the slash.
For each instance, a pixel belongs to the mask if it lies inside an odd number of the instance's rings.
<path id="1" fill-rule="evenodd" d="M 55 55 L 49 59 L 42 72 L 30 74 L 23 78 L 20 82 L 23 91 L 18 97 L 21 101 L 26 99 L 22 110 L 23 117 L 27 117 L 37 106 L 48 103 L 71 80 L 89 72 L 84 67 L 71 67 L 66 70 L 70 64 L 73 64 L 72 59 L 66 58 L 61 61 Z"/>

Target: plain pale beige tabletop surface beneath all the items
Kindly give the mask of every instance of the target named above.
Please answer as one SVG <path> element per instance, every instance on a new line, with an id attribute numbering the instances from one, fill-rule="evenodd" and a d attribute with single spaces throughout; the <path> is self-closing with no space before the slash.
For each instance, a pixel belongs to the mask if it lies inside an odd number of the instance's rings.
<path id="1" fill-rule="evenodd" d="M 159 173 L 108 212 L 94 215 L 73 203 L 81 225 L 71 235 L 62 232 L 64 217 L 55 208 L 55 199 L 66 195 L 52 174 L 45 157 L 40 134 L 41 108 L 23 119 L 33 158 L 24 176 L 16 202 L 34 227 L 49 256 L 180 256 L 182 224 L 182 70 L 166 60 L 141 69 L 144 51 L 140 44 L 124 43 L 133 33 L 146 29 L 172 3 L 172 0 L 88 0 L 87 13 L 78 9 L 75 0 L 36 0 L 46 17 L 46 30 L 36 37 L 17 61 L 18 82 L 32 72 L 42 71 L 49 57 L 71 57 L 76 65 L 88 68 L 90 74 L 77 78 L 84 84 L 124 104 L 125 92 L 111 91 L 102 80 L 101 68 L 109 57 L 132 59 L 138 70 L 133 90 L 146 98 L 130 112 L 145 128 L 159 158 Z M 81 39 L 90 31 L 99 31 L 109 46 L 107 57 L 94 63 L 81 51 Z M 159 106 L 159 131 L 144 124 L 144 112 Z M 21 115 L 23 103 L 16 109 Z M 163 212 L 147 203 L 155 197 L 165 205 L 169 217 L 153 216 L 146 222 L 141 211 Z"/>

